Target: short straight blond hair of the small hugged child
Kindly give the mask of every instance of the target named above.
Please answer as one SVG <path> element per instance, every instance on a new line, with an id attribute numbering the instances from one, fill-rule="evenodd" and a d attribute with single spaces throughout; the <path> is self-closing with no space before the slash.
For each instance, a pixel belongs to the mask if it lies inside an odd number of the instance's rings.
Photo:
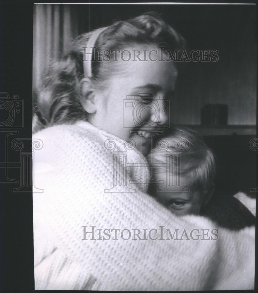
<path id="1" fill-rule="evenodd" d="M 167 144 L 166 151 L 160 150 L 161 144 Z M 157 142 L 148 159 L 152 163 L 167 163 L 167 154 L 179 152 L 180 176 L 187 176 L 192 188 L 209 193 L 214 186 L 215 158 L 197 132 L 187 127 L 174 128 L 168 136 Z M 170 160 L 169 163 L 175 164 L 175 161 Z M 161 168 L 167 170 L 165 165 Z"/>

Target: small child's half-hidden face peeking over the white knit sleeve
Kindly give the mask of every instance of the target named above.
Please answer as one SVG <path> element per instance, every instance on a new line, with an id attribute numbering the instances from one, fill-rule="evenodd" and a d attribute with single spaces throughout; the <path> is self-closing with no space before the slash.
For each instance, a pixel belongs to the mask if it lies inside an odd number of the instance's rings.
<path id="1" fill-rule="evenodd" d="M 155 179 L 163 180 L 164 183 L 155 185 L 157 188 L 157 200 L 167 207 L 173 214 L 186 215 L 186 214 L 200 214 L 201 206 L 204 203 L 204 196 L 200 190 L 194 190 L 189 184 L 187 177 L 180 176 L 180 186 L 189 189 L 187 192 L 178 192 L 179 188 L 176 186 L 168 186 L 166 193 L 158 192 L 158 189 L 166 187 L 166 171 L 157 172 Z"/>

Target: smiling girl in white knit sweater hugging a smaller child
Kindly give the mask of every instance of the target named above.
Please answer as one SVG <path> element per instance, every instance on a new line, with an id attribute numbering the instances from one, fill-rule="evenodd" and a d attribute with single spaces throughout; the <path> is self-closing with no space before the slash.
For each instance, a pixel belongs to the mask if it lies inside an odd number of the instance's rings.
<path id="1" fill-rule="evenodd" d="M 35 289 L 253 289 L 254 228 L 177 218 L 146 193 L 144 155 L 177 77 L 160 48 L 182 45 L 142 15 L 79 36 L 49 70 L 34 120 Z"/>

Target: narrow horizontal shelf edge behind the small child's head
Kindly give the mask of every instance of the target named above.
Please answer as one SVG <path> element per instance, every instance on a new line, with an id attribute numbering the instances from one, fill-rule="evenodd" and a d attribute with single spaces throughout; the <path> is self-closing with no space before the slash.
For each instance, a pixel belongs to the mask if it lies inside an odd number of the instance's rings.
<path id="1" fill-rule="evenodd" d="M 175 125 L 195 130 L 199 135 L 256 135 L 256 125 Z"/>

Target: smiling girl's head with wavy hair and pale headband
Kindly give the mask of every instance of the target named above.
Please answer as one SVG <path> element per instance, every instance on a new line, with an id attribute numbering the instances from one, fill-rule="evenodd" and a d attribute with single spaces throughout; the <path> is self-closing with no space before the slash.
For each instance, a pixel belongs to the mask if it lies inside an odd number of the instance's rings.
<path id="1" fill-rule="evenodd" d="M 94 44 L 90 42 L 92 36 Z M 87 120 L 124 139 L 131 138 L 130 131 L 136 128 L 136 132 L 141 133 L 149 130 L 151 122 L 156 127 L 157 117 L 160 125 L 166 123 L 168 109 L 160 102 L 157 115 L 150 93 L 156 98 L 169 99 L 177 69 L 166 52 L 161 58 L 159 48 L 173 54 L 183 45 L 183 38 L 153 14 L 116 21 L 102 31 L 93 30 L 78 36 L 71 51 L 50 67 L 39 94 L 40 117 L 47 126 Z M 85 55 L 86 47 L 95 47 L 92 56 Z M 91 57 L 94 61 L 88 76 L 84 62 Z M 123 103 L 127 96 L 134 97 L 128 103 L 131 106 Z M 138 99 L 137 102 L 134 99 Z M 140 103 L 143 105 L 139 108 Z M 141 120 L 141 129 L 134 118 Z M 150 140 L 148 135 L 141 137 L 143 151 Z M 134 135 L 134 139 L 137 141 L 139 135 Z"/>

